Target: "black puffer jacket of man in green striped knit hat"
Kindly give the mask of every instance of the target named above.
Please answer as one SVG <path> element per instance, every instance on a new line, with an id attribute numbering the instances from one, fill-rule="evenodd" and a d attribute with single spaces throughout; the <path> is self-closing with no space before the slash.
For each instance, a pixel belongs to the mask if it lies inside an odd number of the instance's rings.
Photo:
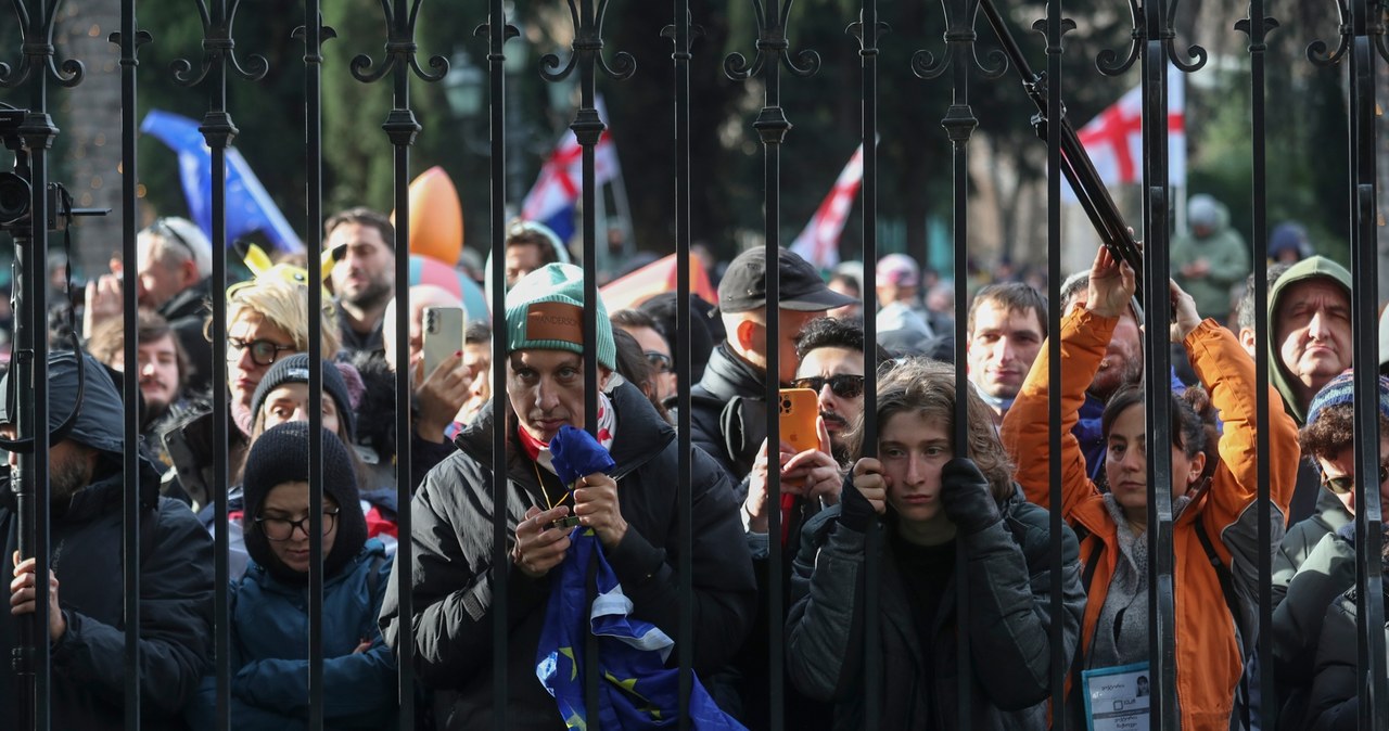
<path id="1" fill-rule="evenodd" d="M 617 413 L 613 476 L 628 531 L 606 556 L 635 605 L 633 616 L 675 637 L 679 626 L 675 433 L 631 384 L 614 390 L 613 408 Z M 499 569 L 492 566 L 492 429 L 489 406 L 456 440 L 461 451 L 429 473 L 411 502 L 415 671 L 421 682 L 440 691 L 438 717 L 446 728 L 493 724 L 492 587 L 493 571 Z M 693 616 L 699 670 L 717 667 L 738 651 L 757 595 L 728 477 L 697 451 L 693 458 Z M 511 544 L 526 509 L 546 501 L 536 465 L 524 452 L 510 454 L 507 480 Z M 554 574 L 536 581 L 511 571 L 510 563 L 500 570 L 508 571 L 510 588 L 507 727 L 563 730 L 556 702 L 535 673 Z M 397 569 L 390 576 L 381 614 L 382 631 L 393 648 L 401 641 L 396 602 L 400 580 Z"/>

